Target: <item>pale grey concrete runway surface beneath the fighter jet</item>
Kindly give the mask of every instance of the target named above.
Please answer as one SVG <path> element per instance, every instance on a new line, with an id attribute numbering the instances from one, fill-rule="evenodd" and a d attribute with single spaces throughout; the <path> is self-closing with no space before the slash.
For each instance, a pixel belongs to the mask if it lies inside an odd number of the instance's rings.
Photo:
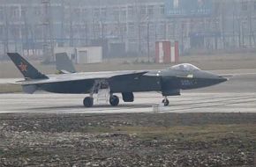
<path id="1" fill-rule="evenodd" d="M 0 94 L 0 113 L 256 113 L 256 74 L 248 71 L 245 75 L 230 77 L 223 84 L 183 91 L 181 96 L 169 97 L 168 107 L 161 105 L 162 95 L 156 92 L 135 93 L 135 102 L 120 100 L 117 107 L 95 99 L 94 107 L 85 108 L 82 105 L 85 97 L 50 93 Z"/>

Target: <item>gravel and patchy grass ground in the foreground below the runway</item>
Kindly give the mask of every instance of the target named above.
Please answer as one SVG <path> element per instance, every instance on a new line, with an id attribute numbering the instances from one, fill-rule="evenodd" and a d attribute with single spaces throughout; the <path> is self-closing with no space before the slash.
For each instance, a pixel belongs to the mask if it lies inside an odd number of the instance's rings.
<path id="1" fill-rule="evenodd" d="M 0 166 L 255 166 L 256 113 L 1 114 Z"/>

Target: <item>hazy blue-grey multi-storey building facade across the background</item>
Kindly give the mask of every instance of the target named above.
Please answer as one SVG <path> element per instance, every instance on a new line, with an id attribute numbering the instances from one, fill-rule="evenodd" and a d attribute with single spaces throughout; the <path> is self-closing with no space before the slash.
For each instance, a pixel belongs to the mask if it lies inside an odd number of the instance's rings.
<path id="1" fill-rule="evenodd" d="M 181 54 L 255 49 L 256 0 L 0 0 L 1 58 L 85 46 L 153 56 L 159 40 Z"/>

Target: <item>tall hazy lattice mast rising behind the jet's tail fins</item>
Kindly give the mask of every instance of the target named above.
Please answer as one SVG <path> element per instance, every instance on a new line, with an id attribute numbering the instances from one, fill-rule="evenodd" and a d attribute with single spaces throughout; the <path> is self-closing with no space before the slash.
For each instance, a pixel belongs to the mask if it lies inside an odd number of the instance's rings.
<path id="1" fill-rule="evenodd" d="M 49 63 L 53 59 L 53 40 L 51 31 L 50 0 L 41 0 L 43 6 L 43 46 L 44 62 Z"/>

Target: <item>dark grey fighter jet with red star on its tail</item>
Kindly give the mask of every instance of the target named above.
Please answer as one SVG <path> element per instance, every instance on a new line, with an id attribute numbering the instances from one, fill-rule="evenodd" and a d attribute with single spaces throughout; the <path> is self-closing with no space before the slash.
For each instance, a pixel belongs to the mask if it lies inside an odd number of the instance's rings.
<path id="1" fill-rule="evenodd" d="M 79 72 L 62 75 L 44 75 L 18 53 L 8 53 L 11 61 L 25 77 L 19 81 L 26 93 L 42 90 L 53 93 L 89 94 L 84 98 L 86 107 L 94 105 L 94 94 L 101 89 L 109 90 L 109 104 L 117 106 L 122 93 L 124 102 L 133 102 L 133 92 L 161 92 L 163 105 L 169 105 L 169 96 L 180 95 L 181 90 L 191 90 L 220 84 L 227 81 L 200 70 L 192 64 L 183 63 L 162 70 L 124 70 L 104 72 Z"/>

